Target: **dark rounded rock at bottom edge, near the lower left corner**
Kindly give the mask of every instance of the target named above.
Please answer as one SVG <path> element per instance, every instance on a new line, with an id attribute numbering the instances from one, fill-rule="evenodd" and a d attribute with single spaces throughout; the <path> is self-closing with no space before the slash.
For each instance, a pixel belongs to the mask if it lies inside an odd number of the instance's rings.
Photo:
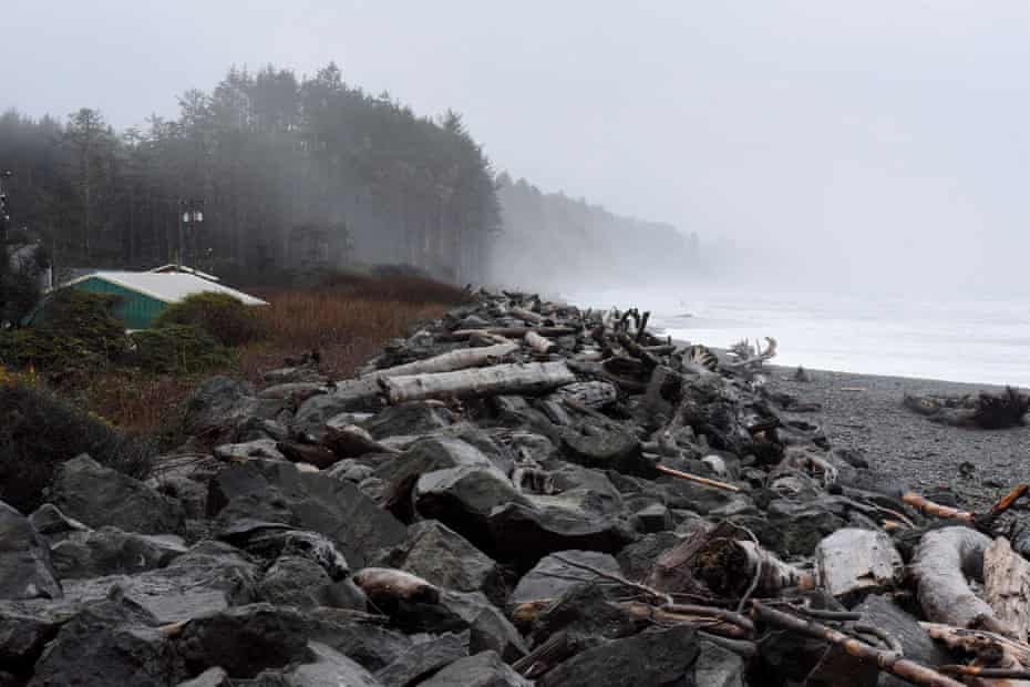
<path id="1" fill-rule="evenodd" d="M 151 687 L 188 673 L 156 618 L 128 602 L 90 604 L 66 622 L 37 662 L 29 687 Z"/>

